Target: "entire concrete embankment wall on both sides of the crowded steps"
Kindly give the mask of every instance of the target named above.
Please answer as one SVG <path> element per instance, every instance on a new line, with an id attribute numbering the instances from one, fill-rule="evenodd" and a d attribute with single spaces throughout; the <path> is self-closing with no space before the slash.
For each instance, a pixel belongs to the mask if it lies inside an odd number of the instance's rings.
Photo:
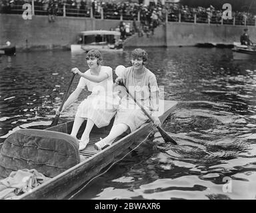
<path id="1" fill-rule="evenodd" d="M 127 21 L 125 21 L 127 22 Z M 0 45 L 11 41 L 17 49 L 59 49 L 70 47 L 76 33 L 85 30 L 115 28 L 119 20 L 101 20 L 83 17 L 57 17 L 49 23 L 48 17 L 33 16 L 24 20 L 21 15 L 0 14 Z M 134 35 L 125 41 L 125 47 L 190 46 L 197 43 L 233 44 L 239 41 L 245 26 L 208 25 L 194 23 L 166 23 L 155 29 L 154 35 Z M 249 35 L 256 42 L 256 27 L 249 26 Z"/>

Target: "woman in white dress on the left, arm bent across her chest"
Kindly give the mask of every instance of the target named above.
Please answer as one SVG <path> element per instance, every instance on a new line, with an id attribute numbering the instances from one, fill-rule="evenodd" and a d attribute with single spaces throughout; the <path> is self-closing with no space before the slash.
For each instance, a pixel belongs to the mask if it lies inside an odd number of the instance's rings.
<path id="1" fill-rule="evenodd" d="M 100 128 L 107 126 L 116 113 L 120 98 L 113 93 L 113 73 L 112 68 L 102 66 L 101 53 L 97 49 L 92 49 L 86 56 L 89 70 L 81 73 L 76 67 L 71 72 L 81 76 L 77 89 L 71 93 L 63 110 L 77 100 L 81 91 L 87 87 L 91 95 L 87 97 L 77 109 L 71 135 L 77 136 L 77 132 L 84 120 L 87 120 L 85 131 L 79 142 L 79 150 L 85 149 L 89 142 L 89 134 L 94 124 Z M 62 111 L 63 111 L 62 110 Z"/>

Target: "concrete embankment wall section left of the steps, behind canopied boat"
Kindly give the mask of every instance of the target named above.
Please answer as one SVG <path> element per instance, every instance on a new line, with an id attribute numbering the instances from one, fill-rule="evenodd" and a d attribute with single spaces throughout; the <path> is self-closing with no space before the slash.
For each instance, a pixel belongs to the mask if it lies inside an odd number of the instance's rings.
<path id="1" fill-rule="evenodd" d="M 79 31 L 115 28 L 119 20 L 81 17 L 56 17 L 49 23 L 44 15 L 24 20 L 21 15 L 0 15 L 0 44 L 11 41 L 18 49 L 54 49 L 69 47 Z"/>

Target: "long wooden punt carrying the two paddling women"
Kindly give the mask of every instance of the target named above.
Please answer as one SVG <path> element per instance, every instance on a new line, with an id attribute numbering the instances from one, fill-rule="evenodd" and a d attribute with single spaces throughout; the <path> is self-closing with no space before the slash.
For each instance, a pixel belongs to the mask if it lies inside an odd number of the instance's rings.
<path id="1" fill-rule="evenodd" d="M 174 110 L 177 102 L 175 101 L 164 101 L 165 109 L 159 119 L 161 123 L 171 114 Z M 90 134 L 90 142 L 85 150 L 80 152 L 80 155 L 86 157 L 85 160 L 79 164 L 69 168 L 65 172 L 51 178 L 47 182 L 44 182 L 37 188 L 31 190 L 19 196 L 20 200 L 41 200 L 41 199 L 63 199 L 66 198 L 71 192 L 75 191 L 82 184 L 90 180 L 95 176 L 101 169 L 113 162 L 115 157 L 125 152 L 130 146 L 135 143 L 141 142 L 149 136 L 153 130 L 153 126 L 150 122 L 143 124 L 140 128 L 130 134 L 124 134 L 117 138 L 115 142 L 105 148 L 104 150 L 95 150 L 94 144 L 99 141 L 99 137 L 105 137 L 109 133 L 113 120 L 109 126 L 103 128 L 93 128 Z M 46 130 L 53 130 L 57 132 L 65 132 L 70 134 L 73 126 L 73 121 L 59 124 Z M 85 123 L 81 126 L 78 138 L 81 136 L 85 128 Z"/>

